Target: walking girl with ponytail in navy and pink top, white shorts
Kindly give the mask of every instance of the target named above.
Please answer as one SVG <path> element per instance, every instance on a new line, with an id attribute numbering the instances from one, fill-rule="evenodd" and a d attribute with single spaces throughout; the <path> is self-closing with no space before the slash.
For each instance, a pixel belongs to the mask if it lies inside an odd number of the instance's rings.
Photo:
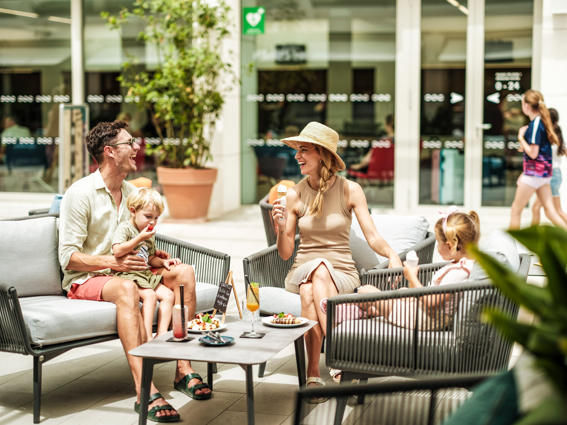
<path id="1" fill-rule="evenodd" d="M 510 229 L 519 229 L 522 210 L 535 192 L 545 209 L 545 215 L 555 226 L 567 230 L 567 223 L 557 213 L 551 194 L 550 184 L 553 173 L 551 145 L 558 146 L 559 139 L 553 131 L 543 95 L 536 90 L 526 91 L 522 98 L 522 112 L 530 118 L 530 124 L 518 131 L 518 141 L 524 152 L 524 171 L 518 178 L 518 189 L 512 202 Z"/>

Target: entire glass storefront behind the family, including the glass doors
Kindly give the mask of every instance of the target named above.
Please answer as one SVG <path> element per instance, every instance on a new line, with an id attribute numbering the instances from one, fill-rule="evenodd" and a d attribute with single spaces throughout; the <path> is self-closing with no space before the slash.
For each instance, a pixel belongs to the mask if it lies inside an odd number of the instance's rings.
<path id="1" fill-rule="evenodd" d="M 338 153 L 347 165 L 341 173 L 361 184 L 371 206 L 394 206 L 394 164 L 405 166 L 399 159 L 409 148 L 418 152 L 416 163 L 407 162 L 418 170 L 411 205 L 471 203 L 464 176 L 474 167 L 482 178 L 475 181 L 481 194 L 472 206 L 510 206 L 522 168 L 517 131 L 527 124 L 520 96 L 532 86 L 533 2 L 485 0 L 484 61 L 471 63 L 468 9 L 475 0 L 422 0 L 421 75 L 414 91 L 420 94 L 419 111 L 404 108 L 396 116 L 396 54 L 406 54 L 396 49 L 401 37 L 396 9 L 406 1 L 234 2 L 232 7 L 265 10 L 261 33 L 243 35 L 240 29 L 235 35 L 242 203 L 257 203 L 280 180 L 301 179 L 295 151 L 280 139 L 319 121 L 338 132 Z M 0 12 L 0 191 L 55 193 L 58 107 L 70 102 L 72 89 L 70 1 L 5 1 L 2 7 L 7 12 Z M 101 11 L 117 13 L 120 7 L 112 0 L 83 2 L 84 103 L 91 128 L 116 118 L 129 122 L 142 146 L 138 171 L 130 177 L 146 176 L 157 184 L 155 158 L 143 153 L 147 143 L 161 143 L 158 132 L 116 80 L 127 56 L 138 58 L 140 70 L 151 71 L 156 53 L 136 40 L 145 29 L 141 22 L 131 19 L 112 31 L 100 18 Z M 484 91 L 467 93 L 469 74 L 479 69 Z M 483 130 L 475 141 L 479 148 L 482 143 L 482 157 L 466 163 L 471 96 L 483 103 L 484 117 L 478 118 Z M 396 151 L 396 127 L 411 120 L 419 128 L 412 133 L 413 147 L 400 145 Z M 91 171 L 95 168 L 92 164 Z"/>

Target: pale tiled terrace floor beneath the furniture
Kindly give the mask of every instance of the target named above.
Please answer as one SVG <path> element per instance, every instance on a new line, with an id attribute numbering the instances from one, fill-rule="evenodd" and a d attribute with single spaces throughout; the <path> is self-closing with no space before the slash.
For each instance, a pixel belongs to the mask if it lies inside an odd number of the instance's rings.
<path id="1" fill-rule="evenodd" d="M 50 198 L 52 196 L 2 194 L 0 218 L 27 215 L 30 209 L 49 207 Z M 529 219 L 527 214 L 525 215 L 524 219 Z M 432 228 L 437 216 L 431 215 L 427 218 Z M 496 228 L 505 228 L 507 219 L 496 215 L 484 216 L 481 223 L 483 235 L 488 235 Z M 258 206 L 244 206 L 234 213 L 201 224 L 177 223 L 164 219 L 159 224 L 159 232 L 229 254 L 240 299 L 244 298 L 243 258 L 266 248 L 264 227 Z M 434 261 L 439 261 L 437 252 Z M 530 278 L 530 282 L 541 285 L 543 279 Z M 229 311 L 236 311 L 234 299 L 231 299 Z M 521 320 L 531 321 L 531 316 L 521 311 Z M 511 364 L 515 363 L 519 354 L 521 347 L 515 346 Z M 206 375 L 205 363 L 195 363 L 194 367 L 202 376 Z M 327 373 L 324 356 L 321 357 L 320 367 L 323 376 L 327 376 L 327 384 L 335 385 Z M 174 390 L 172 385 L 174 369 L 175 364 L 172 362 L 156 366 L 154 383 L 166 400 L 179 410 L 181 423 L 202 425 L 246 423 L 246 388 L 242 368 L 219 364 L 218 374 L 214 376 L 214 397 L 207 401 L 192 400 Z M 257 372 L 257 367 L 254 369 Z M 73 425 L 137 423 L 137 414 L 133 410 L 136 392 L 119 341 L 71 350 L 46 362 L 43 371 L 41 423 Z M 30 356 L 0 352 L 1 424 L 33 423 L 32 375 Z M 388 379 L 391 378 L 372 381 Z M 260 379 L 256 376 L 254 385 L 257 424 L 293 423 L 295 409 L 293 394 L 297 389 L 293 345 L 282 350 L 268 362 L 264 378 Z M 375 415 L 371 414 L 373 410 L 367 408 L 372 402 L 373 398 L 369 398 L 362 407 L 350 403 L 344 423 L 377 423 L 372 422 L 372 418 L 375 418 Z M 331 409 L 332 403 L 333 401 L 323 403 L 325 406 L 319 409 Z"/>

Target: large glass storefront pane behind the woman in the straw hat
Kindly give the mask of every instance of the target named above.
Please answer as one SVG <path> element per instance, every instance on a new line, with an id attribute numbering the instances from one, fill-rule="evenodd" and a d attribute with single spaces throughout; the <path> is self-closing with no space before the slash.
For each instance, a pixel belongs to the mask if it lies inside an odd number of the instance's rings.
<path id="1" fill-rule="evenodd" d="M 301 179 L 280 139 L 318 121 L 339 134 L 342 175 L 371 205 L 392 207 L 395 0 L 243 2 L 254 6 L 265 31 L 242 36 L 243 203 Z"/>

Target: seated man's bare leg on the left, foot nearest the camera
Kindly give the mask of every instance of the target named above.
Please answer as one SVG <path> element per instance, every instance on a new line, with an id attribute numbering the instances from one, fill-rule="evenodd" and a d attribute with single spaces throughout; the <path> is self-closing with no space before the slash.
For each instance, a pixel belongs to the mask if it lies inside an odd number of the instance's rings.
<path id="1" fill-rule="evenodd" d="M 101 298 L 109 303 L 116 304 L 116 321 L 118 325 L 118 335 L 126 359 L 134 377 L 136 394 L 139 403 L 140 388 L 142 384 L 142 358 L 128 354 L 132 349 L 147 342 L 146 330 L 143 325 L 142 315 L 139 310 L 138 286 L 128 279 L 113 278 L 104 284 Z M 154 383 L 151 383 L 150 394 L 158 393 Z M 154 406 L 168 404 L 163 398 L 158 398 L 150 403 L 148 410 Z M 160 410 L 155 415 L 157 417 L 176 415 L 175 410 Z"/>

